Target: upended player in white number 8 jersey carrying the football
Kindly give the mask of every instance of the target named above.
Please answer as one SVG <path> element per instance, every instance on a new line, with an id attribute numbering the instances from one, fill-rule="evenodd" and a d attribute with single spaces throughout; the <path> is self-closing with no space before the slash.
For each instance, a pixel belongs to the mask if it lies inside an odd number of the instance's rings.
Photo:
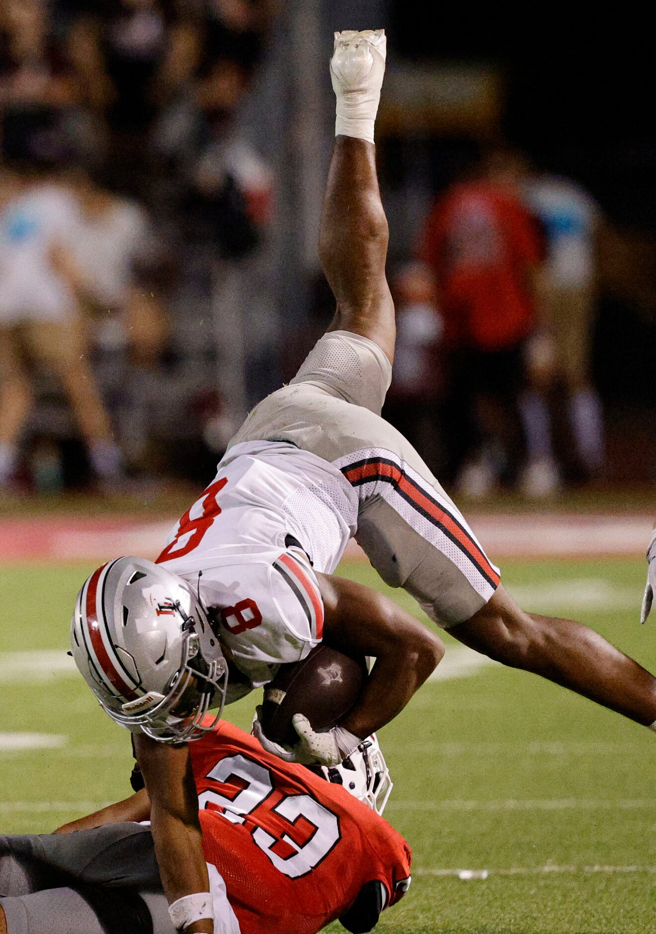
<path id="1" fill-rule="evenodd" d="M 184 744 L 207 708 L 267 683 L 322 638 L 373 656 L 334 729 L 316 733 L 297 715 L 299 742 L 283 748 L 254 726 L 270 752 L 330 764 L 396 716 L 440 660 L 440 641 L 396 604 L 333 576 L 352 535 L 388 584 L 464 644 L 656 721 L 649 672 L 579 623 L 524 613 L 424 461 L 380 417 L 395 344 L 373 146 L 384 59 L 382 31 L 335 36 L 319 243 L 337 299 L 328 333 L 247 417 L 157 565 L 110 562 L 77 601 L 73 653 L 107 713 L 137 733 L 162 883 L 186 931 L 213 929 Z"/>

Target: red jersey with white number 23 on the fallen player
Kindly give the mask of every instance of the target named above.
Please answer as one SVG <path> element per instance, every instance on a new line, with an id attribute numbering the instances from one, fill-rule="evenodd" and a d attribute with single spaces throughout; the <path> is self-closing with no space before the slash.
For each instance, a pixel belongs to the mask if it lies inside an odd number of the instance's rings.
<path id="1" fill-rule="evenodd" d="M 225 880 L 242 934 L 314 934 L 378 880 L 404 894 L 411 850 L 341 785 L 266 753 L 221 722 L 189 743 L 205 858 Z"/>

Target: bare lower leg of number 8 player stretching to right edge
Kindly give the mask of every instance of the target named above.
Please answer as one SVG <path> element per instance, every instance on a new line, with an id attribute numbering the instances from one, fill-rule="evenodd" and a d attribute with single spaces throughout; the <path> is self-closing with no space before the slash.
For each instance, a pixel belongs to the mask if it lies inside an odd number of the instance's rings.
<path id="1" fill-rule="evenodd" d="M 656 678 L 581 623 L 524 613 L 502 586 L 449 632 L 483 655 L 540 674 L 645 727 L 656 721 Z"/>

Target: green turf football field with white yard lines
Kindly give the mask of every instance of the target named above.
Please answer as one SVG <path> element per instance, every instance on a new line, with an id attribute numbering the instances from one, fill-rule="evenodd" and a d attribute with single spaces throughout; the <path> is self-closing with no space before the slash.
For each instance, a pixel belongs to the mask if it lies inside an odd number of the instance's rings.
<path id="1" fill-rule="evenodd" d="M 81 680 L 45 673 L 50 657 L 35 654 L 65 651 L 91 570 L 0 568 L 2 832 L 48 831 L 130 791 L 126 734 Z M 376 586 L 367 568 L 343 571 Z M 504 579 L 527 609 L 578 616 L 656 668 L 656 621 L 637 623 L 641 562 L 515 563 Z M 246 699 L 228 715 L 246 727 L 252 707 Z M 16 732 L 54 734 L 60 745 L 7 750 L 5 734 Z M 378 930 L 656 931 L 656 737 L 646 729 L 494 666 L 427 684 L 381 740 L 396 783 L 385 816 L 414 862 L 410 893 Z M 490 875 L 466 882 L 459 869 Z"/>

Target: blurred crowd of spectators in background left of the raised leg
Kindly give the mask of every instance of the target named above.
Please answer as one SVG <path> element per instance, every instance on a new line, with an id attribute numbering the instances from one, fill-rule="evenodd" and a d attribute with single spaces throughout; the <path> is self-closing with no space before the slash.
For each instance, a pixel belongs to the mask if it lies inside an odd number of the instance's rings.
<path id="1" fill-rule="evenodd" d="M 216 342 L 194 338 L 217 258 L 248 256 L 271 215 L 234 117 L 274 7 L 0 4 L 0 487 L 185 473 L 161 438 L 220 407 Z"/>

